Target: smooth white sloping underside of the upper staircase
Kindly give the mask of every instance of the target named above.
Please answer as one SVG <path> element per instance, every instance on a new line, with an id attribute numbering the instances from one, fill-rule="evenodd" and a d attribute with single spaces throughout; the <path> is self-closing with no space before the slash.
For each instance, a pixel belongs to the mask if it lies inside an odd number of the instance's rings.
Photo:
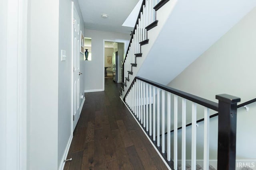
<path id="1" fill-rule="evenodd" d="M 254 0 L 178 0 L 138 76 L 168 84 L 255 6 Z M 158 23 L 170 9 L 156 12 Z"/>

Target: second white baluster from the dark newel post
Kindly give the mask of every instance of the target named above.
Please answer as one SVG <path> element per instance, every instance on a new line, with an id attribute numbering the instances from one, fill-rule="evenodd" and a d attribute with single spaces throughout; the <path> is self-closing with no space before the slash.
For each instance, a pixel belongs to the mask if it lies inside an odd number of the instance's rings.
<path id="1" fill-rule="evenodd" d="M 192 104 L 191 169 L 196 169 L 196 103 Z"/>

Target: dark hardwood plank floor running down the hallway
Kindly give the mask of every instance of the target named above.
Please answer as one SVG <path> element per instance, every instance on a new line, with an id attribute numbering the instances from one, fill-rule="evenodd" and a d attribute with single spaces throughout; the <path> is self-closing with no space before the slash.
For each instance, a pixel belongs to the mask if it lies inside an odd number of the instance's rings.
<path id="1" fill-rule="evenodd" d="M 120 86 L 106 78 L 104 92 L 85 93 L 64 170 L 167 169 L 119 98 Z"/>

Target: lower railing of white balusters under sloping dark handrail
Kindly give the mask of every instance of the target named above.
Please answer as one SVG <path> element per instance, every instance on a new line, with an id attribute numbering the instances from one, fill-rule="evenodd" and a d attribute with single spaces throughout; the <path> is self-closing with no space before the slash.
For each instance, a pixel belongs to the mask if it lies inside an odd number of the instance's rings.
<path id="1" fill-rule="evenodd" d="M 130 111 L 138 120 L 139 124 L 142 126 L 146 134 L 150 137 L 150 139 L 152 139 L 152 142 L 161 153 L 160 155 L 166 155 L 163 156 L 163 158 L 169 165 L 171 165 L 172 161 L 173 166 L 171 168 L 175 170 L 178 169 L 178 153 L 181 153 L 181 155 L 179 156 L 179 159 L 181 159 L 181 169 L 186 169 L 186 118 L 191 117 L 191 169 L 196 170 L 196 129 L 198 126 L 197 115 L 200 114 L 200 111 L 198 113 L 199 109 L 197 109 L 197 107 L 204 108 L 204 145 L 202 146 L 204 149 L 203 164 L 204 169 L 208 169 L 210 109 L 212 109 L 213 111 L 221 112 L 222 109 L 219 110 L 219 107 L 223 101 L 229 102 L 232 101 L 233 98 L 238 101 L 239 99 L 229 95 L 216 95 L 216 98 L 219 99 L 219 104 L 200 98 L 198 96 L 188 94 L 186 92 L 181 92 L 179 90 L 164 86 L 162 84 L 158 84 L 156 82 L 152 82 L 150 80 L 146 80 L 144 78 L 135 77 L 128 92 L 124 97 L 124 101 L 130 107 Z M 229 98 L 231 98 L 231 100 Z M 187 102 L 187 100 L 190 102 Z M 191 109 L 188 107 L 191 107 Z M 187 110 L 191 111 L 188 112 Z M 179 114 L 181 116 L 178 116 Z M 227 113 L 224 112 L 223 114 Z M 173 117 L 173 119 L 171 117 Z M 219 120 L 220 125 L 226 125 L 226 123 L 226 120 Z M 182 125 L 181 141 L 178 141 L 178 129 L 180 129 L 178 128 L 179 124 Z M 171 127 L 173 127 L 173 130 L 171 130 Z M 224 130 L 226 130 L 226 128 Z M 173 140 L 171 140 L 172 132 Z M 221 135 L 223 137 L 223 134 Z M 165 139 L 165 136 L 167 137 L 167 141 Z M 224 137 L 224 139 L 226 138 Z M 182 147 L 181 150 L 178 150 L 178 143 L 180 142 Z M 173 148 L 171 148 L 171 144 L 173 144 Z M 233 145 L 230 146 L 232 147 Z M 222 149 L 219 150 L 223 151 Z M 224 150 L 226 151 L 226 149 Z"/>

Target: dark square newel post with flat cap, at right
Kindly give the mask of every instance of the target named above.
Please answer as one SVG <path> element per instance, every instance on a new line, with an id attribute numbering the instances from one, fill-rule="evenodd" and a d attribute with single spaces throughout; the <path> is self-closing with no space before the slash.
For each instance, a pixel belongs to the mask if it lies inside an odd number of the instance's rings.
<path id="1" fill-rule="evenodd" d="M 219 100 L 218 170 L 236 169 L 236 113 L 240 98 L 228 94 L 216 95 Z"/>

